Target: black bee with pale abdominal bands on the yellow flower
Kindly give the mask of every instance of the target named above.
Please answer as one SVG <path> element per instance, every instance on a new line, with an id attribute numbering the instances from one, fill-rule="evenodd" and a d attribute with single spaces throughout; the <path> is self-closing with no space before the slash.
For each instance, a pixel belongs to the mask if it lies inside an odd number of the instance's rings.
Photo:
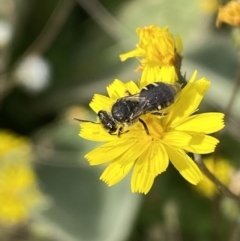
<path id="1" fill-rule="evenodd" d="M 99 123 L 75 119 L 80 122 L 101 124 L 109 134 L 117 134 L 118 136 L 127 132 L 124 127 L 131 126 L 139 121 L 149 135 L 147 125 L 140 117 L 148 113 L 163 115 L 162 111 L 174 103 L 180 90 L 181 85 L 179 83 L 153 82 L 137 94 L 128 92 L 126 96 L 117 99 L 110 112 L 100 110 L 97 114 Z"/>

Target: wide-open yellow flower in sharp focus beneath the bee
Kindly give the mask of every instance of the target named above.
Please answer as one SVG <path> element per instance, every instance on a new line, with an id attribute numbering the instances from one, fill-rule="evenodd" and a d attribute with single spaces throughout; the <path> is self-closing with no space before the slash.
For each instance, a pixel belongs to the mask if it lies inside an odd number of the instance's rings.
<path id="1" fill-rule="evenodd" d="M 190 116 L 197 110 L 210 85 L 204 78 L 194 81 L 195 77 L 196 72 L 176 102 L 169 107 L 166 116 L 141 116 L 149 129 L 149 135 L 139 121 L 120 137 L 110 135 L 100 124 L 80 124 L 81 137 L 106 142 L 85 156 L 90 165 L 109 163 L 100 177 L 101 180 L 112 186 L 133 169 L 132 192 L 146 194 L 155 177 L 167 169 L 169 160 L 190 183 L 197 184 L 202 180 L 201 171 L 186 152 L 213 152 L 218 140 L 207 134 L 223 128 L 224 115 L 205 113 Z M 124 84 L 116 80 L 107 88 L 109 97 L 95 95 L 90 106 L 96 113 L 99 110 L 110 112 L 112 104 L 116 99 L 123 97 L 126 90 L 132 94 L 139 92 L 134 82 Z"/>

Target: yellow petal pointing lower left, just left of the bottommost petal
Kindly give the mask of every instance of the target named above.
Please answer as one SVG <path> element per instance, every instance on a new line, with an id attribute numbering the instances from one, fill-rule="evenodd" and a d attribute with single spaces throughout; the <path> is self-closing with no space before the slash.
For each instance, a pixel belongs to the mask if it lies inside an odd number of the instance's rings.
<path id="1" fill-rule="evenodd" d="M 107 166 L 107 168 L 102 173 L 100 180 L 107 183 L 108 186 L 115 185 L 128 174 L 133 164 L 134 161 L 123 166 L 120 165 L 118 163 L 118 159 L 116 159 Z"/>

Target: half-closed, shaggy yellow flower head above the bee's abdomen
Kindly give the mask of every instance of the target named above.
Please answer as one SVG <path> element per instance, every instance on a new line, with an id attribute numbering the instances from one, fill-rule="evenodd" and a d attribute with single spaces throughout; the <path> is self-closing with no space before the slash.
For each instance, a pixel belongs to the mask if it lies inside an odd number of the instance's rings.
<path id="1" fill-rule="evenodd" d="M 180 36 L 176 36 L 175 42 L 168 27 L 161 29 L 155 25 L 138 28 L 137 34 L 139 36 L 139 43 L 136 49 L 121 54 L 120 59 L 122 61 L 131 57 L 139 59 L 141 66 L 137 70 L 143 71 L 142 82 L 146 79 L 152 82 L 164 80 L 166 73 L 169 83 L 178 80 L 182 58 L 180 52 L 183 48 Z"/>

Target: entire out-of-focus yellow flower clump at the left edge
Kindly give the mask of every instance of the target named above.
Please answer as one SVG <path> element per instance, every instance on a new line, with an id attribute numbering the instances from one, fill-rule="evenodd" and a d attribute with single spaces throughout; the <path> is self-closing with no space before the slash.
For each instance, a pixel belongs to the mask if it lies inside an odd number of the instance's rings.
<path id="1" fill-rule="evenodd" d="M 30 141 L 5 130 L 0 138 L 0 223 L 14 225 L 27 221 L 44 199 L 30 164 Z"/>

